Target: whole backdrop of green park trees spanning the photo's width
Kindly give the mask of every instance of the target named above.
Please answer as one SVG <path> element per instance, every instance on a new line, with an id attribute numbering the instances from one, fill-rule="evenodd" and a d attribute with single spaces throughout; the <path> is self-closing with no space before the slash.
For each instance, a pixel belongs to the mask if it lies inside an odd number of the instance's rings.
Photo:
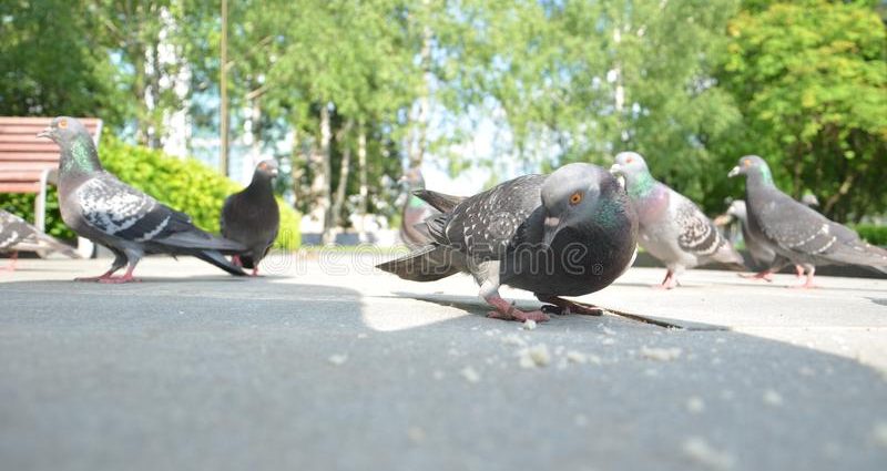
<path id="1" fill-rule="evenodd" d="M 278 188 L 294 193 L 299 209 L 334 199 L 339 216 L 394 213 L 386 187 L 404 161 L 425 153 L 453 175 L 483 166 L 498 181 L 516 168 L 609 165 L 633 150 L 708 213 L 741 195 L 742 182 L 724 174 L 753 153 L 793 196 L 814 193 L 829 217 L 859 221 L 887 209 L 885 4 L 230 2 L 233 149 L 249 141 L 248 152 L 274 155 L 285 173 Z M 166 119 L 190 103 L 194 135 L 217 135 L 217 3 L 4 7 L 0 114 L 100 115 L 115 135 L 157 147 L 171 131 Z M 492 155 L 478 162 L 460 144 L 489 132 L 488 122 L 496 135 L 480 137 L 492 141 Z M 279 145 L 289 136 L 292 152 Z M 367 142 L 364 168 L 355 168 L 358 136 Z M 339 198 L 345 155 L 351 168 Z M 2 201 L 30 212 L 31 199 Z M 52 231 L 63 234 L 58 224 Z"/>

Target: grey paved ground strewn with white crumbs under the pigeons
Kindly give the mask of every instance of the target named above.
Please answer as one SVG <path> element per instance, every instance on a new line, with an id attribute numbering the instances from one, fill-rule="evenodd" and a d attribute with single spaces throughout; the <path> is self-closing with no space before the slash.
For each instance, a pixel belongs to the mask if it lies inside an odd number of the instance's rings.
<path id="1" fill-rule="evenodd" d="M 667 322 L 485 317 L 385 253 L 257 279 L 145 259 L 0 272 L 2 470 L 884 470 L 887 280 L 632 268 L 582 301 Z M 523 291 L 506 298 L 532 308 Z"/>

